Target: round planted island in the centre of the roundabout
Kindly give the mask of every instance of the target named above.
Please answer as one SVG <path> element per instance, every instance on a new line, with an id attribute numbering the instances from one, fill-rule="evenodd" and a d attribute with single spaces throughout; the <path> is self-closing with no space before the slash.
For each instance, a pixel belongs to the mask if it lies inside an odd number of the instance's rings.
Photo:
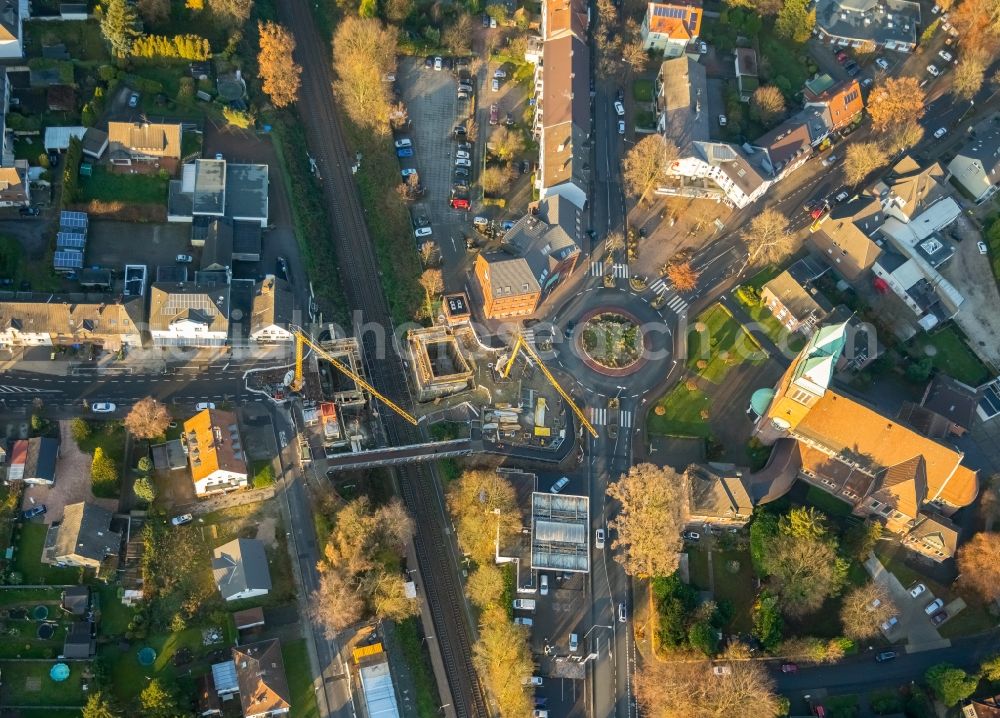
<path id="1" fill-rule="evenodd" d="M 644 335 L 638 319 L 628 312 L 590 313 L 581 323 L 578 337 L 584 361 L 602 374 L 625 376 L 645 363 Z"/>

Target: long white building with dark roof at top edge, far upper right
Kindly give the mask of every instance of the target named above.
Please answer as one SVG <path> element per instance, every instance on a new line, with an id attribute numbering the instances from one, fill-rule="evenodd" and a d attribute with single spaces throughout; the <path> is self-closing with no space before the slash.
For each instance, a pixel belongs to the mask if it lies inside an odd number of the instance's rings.
<path id="1" fill-rule="evenodd" d="M 920 37 L 920 5 L 909 0 L 818 0 L 816 34 L 839 46 L 912 52 Z"/>

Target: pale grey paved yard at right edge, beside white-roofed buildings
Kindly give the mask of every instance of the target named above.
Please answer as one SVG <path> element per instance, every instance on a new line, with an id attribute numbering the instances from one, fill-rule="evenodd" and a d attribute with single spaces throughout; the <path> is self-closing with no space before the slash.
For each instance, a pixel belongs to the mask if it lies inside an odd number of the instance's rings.
<path id="1" fill-rule="evenodd" d="M 1000 366 L 1000 343 L 996 341 L 1000 336 L 1000 291 L 989 256 L 979 253 L 977 242 L 982 235 L 964 215 L 955 221 L 951 231 L 961 241 L 941 274 L 965 297 L 955 322 L 980 358 Z"/>

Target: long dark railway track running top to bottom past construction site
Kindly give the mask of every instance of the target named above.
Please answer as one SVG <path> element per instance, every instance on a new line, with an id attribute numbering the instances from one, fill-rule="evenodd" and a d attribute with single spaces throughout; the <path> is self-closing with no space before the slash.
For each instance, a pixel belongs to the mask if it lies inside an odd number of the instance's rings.
<path id="1" fill-rule="evenodd" d="M 371 322 L 384 327 L 386 336 L 391 337 L 393 325 L 389 306 L 378 280 L 378 263 L 350 171 L 354 153 L 347 147 L 334 106 L 330 44 L 319 36 L 307 2 L 279 3 L 279 14 L 296 38 L 295 54 L 303 68 L 298 107 L 312 154 L 321 167 L 344 291 L 354 311 L 356 326 Z M 393 343 L 381 342 L 385 356 L 380 357 L 376 354 L 379 342 L 370 332 L 361 339 L 362 356 L 372 383 L 393 401 L 403 406 L 410 404 L 404 368 Z M 422 440 L 417 429 L 391 411 L 384 410 L 381 416 L 386 438 L 392 444 Z M 486 718 L 489 711 L 472 665 L 470 626 L 462 607 L 457 567 L 448 558 L 451 552 L 434 477 L 422 466 L 402 467 L 397 475 L 403 501 L 417 527 L 414 546 L 455 713 L 462 718 Z"/>

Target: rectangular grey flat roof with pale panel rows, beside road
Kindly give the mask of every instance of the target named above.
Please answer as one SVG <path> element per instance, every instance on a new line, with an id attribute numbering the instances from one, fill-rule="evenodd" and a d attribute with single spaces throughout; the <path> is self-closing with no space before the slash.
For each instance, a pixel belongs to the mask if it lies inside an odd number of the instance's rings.
<path id="1" fill-rule="evenodd" d="M 590 499 L 536 491 L 531 494 L 531 567 L 590 571 Z"/>

